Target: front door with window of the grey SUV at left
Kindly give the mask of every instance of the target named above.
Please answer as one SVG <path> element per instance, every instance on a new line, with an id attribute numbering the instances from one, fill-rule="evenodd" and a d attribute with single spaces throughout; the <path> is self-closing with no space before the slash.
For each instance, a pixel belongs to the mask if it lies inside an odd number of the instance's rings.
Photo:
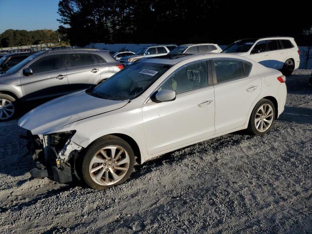
<path id="1" fill-rule="evenodd" d="M 20 78 L 25 101 L 50 99 L 67 93 L 68 81 L 63 57 L 64 55 L 48 55 L 29 65 L 33 75 Z"/>

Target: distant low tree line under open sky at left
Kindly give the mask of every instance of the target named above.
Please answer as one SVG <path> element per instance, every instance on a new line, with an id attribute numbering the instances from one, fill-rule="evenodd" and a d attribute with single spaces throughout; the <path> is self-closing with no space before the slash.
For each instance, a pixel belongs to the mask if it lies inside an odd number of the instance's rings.
<path id="1" fill-rule="evenodd" d="M 57 31 L 42 29 L 34 31 L 8 29 L 0 34 L 0 47 L 59 43 Z"/>

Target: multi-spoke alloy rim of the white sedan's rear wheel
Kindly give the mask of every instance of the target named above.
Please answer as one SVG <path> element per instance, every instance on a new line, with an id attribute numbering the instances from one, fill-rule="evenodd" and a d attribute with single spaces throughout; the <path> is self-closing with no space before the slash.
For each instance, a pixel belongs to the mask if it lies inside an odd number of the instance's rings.
<path id="1" fill-rule="evenodd" d="M 272 106 L 267 103 L 261 105 L 254 118 L 256 129 L 261 133 L 267 131 L 273 122 L 273 117 L 274 113 Z"/>

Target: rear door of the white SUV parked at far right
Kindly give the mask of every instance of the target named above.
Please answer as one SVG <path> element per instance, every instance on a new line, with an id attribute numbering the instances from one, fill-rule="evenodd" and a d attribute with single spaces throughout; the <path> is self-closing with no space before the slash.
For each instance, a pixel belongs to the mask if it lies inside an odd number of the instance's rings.
<path id="1" fill-rule="evenodd" d="M 286 53 L 282 49 L 280 41 L 274 39 L 267 40 L 267 48 L 270 54 L 270 63 L 267 66 L 274 69 L 282 69 L 286 60 Z"/>

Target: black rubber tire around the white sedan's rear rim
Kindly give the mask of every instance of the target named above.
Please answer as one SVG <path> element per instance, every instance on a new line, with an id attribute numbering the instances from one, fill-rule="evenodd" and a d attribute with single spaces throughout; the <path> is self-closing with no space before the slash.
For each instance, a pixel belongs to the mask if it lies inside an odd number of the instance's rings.
<path id="1" fill-rule="evenodd" d="M 271 125 L 269 126 L 268 129 L 266 129 L 265 131 L 261 132 L 261 131 L 258 131 L 257 127 L 256 127 L 256 124 L 255 124 L 255 117 L 256 117 L 256 114 L 257 114 L 257 111 L 258 109 L 264 105 L 264 104 L 268 104 L 272 107 L 273 109 L 273 116 L 272 116 L 272 123 Z M 274 104 L 272 101 L 268 100 L 268 99 L 264 99 L 262 98 L 255 106 L 254 106 L 254 110 L 249 118 L 249 123 L 248 123 L 248 128 L 247 128 L 247 132 L 250 134 L 250 135 L 255 135 L 255 136 L 262 136 L 266 133 L 268 133 L 272 126 L 273 126 L 273 123 L 274 123 L 274 120 L 275 120 L 275 107 L 274 107 Z M 270 118 L 271 119 L 271 118 Z"/>

